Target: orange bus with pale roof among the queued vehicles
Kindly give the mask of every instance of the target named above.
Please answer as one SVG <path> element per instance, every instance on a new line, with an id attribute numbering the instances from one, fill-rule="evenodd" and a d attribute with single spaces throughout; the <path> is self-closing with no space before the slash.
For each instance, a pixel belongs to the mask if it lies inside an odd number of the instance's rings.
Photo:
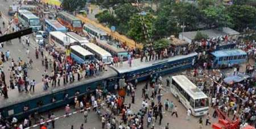
<path id="1" fill-rule="evenodd" d="M 69 31 L 82 32 L 82 21 L 64 11 L 57 14 L 57 20 Z"/>

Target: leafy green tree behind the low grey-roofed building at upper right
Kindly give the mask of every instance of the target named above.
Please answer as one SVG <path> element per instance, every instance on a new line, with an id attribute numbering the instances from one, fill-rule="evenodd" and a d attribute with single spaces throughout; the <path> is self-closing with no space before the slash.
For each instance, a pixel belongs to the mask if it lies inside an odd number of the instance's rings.
<path id="1" fill-rule="evenodd" d="M 203 16 L 209 27 L 233 27 L 233 19 L 225 11 L 225 7 L 209 6 L 202 10 Z"/>

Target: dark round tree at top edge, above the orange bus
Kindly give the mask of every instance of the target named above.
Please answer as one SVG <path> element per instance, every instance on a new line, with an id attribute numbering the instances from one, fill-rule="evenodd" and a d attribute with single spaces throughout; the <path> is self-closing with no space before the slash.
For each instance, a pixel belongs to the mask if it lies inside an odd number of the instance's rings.
<path id="1" fill-rule="evenodd" d="M 82 9 L 86 5 L 86 0 L 63 0 L 61 6 L 64 10 L 69 12 L 75 11 L 76 9 Z"/>

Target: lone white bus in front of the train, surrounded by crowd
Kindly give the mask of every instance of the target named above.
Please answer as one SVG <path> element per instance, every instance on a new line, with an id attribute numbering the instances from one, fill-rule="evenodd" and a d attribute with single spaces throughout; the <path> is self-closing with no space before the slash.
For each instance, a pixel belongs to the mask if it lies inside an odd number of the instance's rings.
<path id="1" fill-rule="evenodd" d="M 171 93 L 187 109 L 191 109 L 194 116 L 205 115 L 209 111 L 209 98 L 196 87 L 186 76 L 173 76 Z"/>

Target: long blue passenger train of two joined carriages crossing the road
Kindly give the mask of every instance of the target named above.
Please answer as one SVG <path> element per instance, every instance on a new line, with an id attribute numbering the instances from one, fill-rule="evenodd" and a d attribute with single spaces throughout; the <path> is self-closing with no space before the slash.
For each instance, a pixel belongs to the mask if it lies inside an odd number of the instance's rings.
<path id="1" fill-rule="evenodd" d="M 127 61 L 124 61 L 122 66 L 107 66 L 106 71 L 97 77 L 86 78 L 52 90 L 48 89 L 40 94 L 31 96 L 21 94 L 13 102 L 6 102 L 8 99 L 5 99 L 0 104 L 0 113 L 7 119 L 13 116 L 17 119 L 24 119 L 30 114 L 44 113 L 63 107 L 68 103 L 72 103 L 75 96 L 79 98 L 85 97 L 93 94 L 96 88 L 99 87 L 112 92 L 114 91 L 114 85 L 118 84 L 120 78 L 125 78 L 126 81 L 137 79 L 138 82 L 141 82 L 150 78 L 151 74 L 164 76 L 178 70 L 191 68 L 195 59 L 197 59 L 196 52 L 150 62 L 141 62 L 140 59 L 134 59 L 132 65 L 136 67 L 129 66 Z"/>

